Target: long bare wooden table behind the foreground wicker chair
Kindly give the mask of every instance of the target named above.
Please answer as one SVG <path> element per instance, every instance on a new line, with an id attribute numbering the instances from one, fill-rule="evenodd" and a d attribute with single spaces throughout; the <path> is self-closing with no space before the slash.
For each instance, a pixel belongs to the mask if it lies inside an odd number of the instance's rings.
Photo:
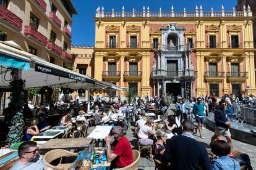
<path id="1" fill-rule="evenodd" d="M 92 138 L 67 138 L 67 139 L 51 139 L 45 144 L 42 144 L 38 147 L 39 150 L 53 150 L 56 148 L 59 149 L 84 149 L 92 142 Z"/>

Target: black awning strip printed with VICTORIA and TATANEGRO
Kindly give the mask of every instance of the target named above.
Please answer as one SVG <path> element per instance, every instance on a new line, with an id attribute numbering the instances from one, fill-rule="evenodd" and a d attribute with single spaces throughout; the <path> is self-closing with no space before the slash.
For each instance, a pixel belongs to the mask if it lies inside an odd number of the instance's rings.
<path id="1" fill-rule="evenodd" d="M 35 64 L 35 71 L 38 71 L 38 72 L 41 72 L 41 73 L 46 73 L 46 74 L 49 74 L 49 75 L 54 75 L 54 76 L 60 76 L 62 78 L 70 78 L 70 79 L 75 79 L 77 81 L 83 81 L 83 82 L 86 82 L 86 83 L 95 84 L 95 81 L 93 81 L 92 79 L 83 78 L 81 76 L 77 76 L 77 75 L 74 75 L 72 73 L 66 73 L 66 72 L 61 71 L 61 70 L 56 70 L 54 68 L 46 67 L 45 65 L 40 65 L 38 63 Z"/>

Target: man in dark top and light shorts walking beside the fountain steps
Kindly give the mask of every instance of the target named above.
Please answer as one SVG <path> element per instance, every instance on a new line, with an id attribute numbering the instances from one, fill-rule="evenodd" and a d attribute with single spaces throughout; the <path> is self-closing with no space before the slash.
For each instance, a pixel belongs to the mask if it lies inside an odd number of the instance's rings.
<path id="1" fill-rule="evenodd" d="M 215 134 L 211 137 L 211 142 L 213 142 L 217 137 L 221 135 L 226 137 L 227 142 L 233 148 L 233 142 L 231 139 L 231 133 L 229 131 L 229 127 L 231 123 L 228 122 L 228 113 L 224 110 L 225 101 L 221 100 L 219 102 L 220 108 L 215 111 L 214 120 L 215 120 Z"/>

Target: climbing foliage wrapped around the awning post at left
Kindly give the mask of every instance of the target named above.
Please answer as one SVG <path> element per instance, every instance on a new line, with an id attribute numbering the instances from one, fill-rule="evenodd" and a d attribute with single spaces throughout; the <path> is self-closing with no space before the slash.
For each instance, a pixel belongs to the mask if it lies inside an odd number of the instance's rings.
<path id="1" fill-rule="evenodd" d="M 23 113 L 22 104 L 24 102 L 24 86 L 25 81 L 22 79 L 13 80 L 10 83 L 11 87 L 11 114 L 12 118 L 11 126 L 9 126 L 9 133 L 7 135 L 7 143 L 13 145 L 20 142 L 23 137 Z"/>

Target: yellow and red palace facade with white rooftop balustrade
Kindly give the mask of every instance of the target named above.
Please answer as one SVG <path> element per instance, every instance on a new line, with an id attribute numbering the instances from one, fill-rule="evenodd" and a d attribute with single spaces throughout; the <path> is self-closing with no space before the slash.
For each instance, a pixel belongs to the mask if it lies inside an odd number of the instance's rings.
<path id="1" fill-rule="evenodd" d="M 252 12 L 96 9 L 95 79 L 140 96 L 256 94 Z M 123 92 L 116 95 L 124 96 Z"/>

